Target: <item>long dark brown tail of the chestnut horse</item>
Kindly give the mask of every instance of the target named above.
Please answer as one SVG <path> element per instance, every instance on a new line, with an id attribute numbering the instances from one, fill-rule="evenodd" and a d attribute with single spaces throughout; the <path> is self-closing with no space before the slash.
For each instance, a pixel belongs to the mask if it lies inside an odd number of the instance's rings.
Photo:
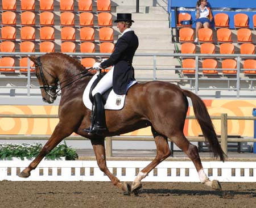
<path id="1" fill-rule="evenodd" d="M 193 104 L 193 109 L 195 112 L 196 120 L 203 131 L 204 137 L 209 142 L 210 152 L 213 153 L 214 158 L 219 157 L 222 162 L 225 160 L 225 153 L 222 151 L 220 143 L 218 143 L 217 135 L 214 130 L 212 120 L 210 120 L 210 115 L 205 107 L 203 100 L 199 96 L 193 94 L 193 92 L 188 90 L 182 90 L 183 94 L 190 97 Z"/>

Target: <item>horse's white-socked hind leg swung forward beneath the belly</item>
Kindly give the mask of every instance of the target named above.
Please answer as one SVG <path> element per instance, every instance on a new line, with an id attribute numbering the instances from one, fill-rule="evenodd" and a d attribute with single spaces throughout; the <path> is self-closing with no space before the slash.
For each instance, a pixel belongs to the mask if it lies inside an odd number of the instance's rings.
<path id="1" fill-rule="evenodd" d="M 141 180 L 144 179 L 144 177 L 146 177 L 147 174 L 156 167 L 156 165 L 158 165 L 160 162 L 162 162 L 164 159 L 168 158 L 168 156 L 171 155 L 171 151 L 168 146 L 167 137 L 159 134 L 152 127 L 151 127 L 151 131 L 155 139 L 156 156 L 154 160 L 152 160 L 152 162 L 147 165 L 147 167 L 143 168 L 142 171 L 138 173 L 137 177 L 133 181 L 133 185 L 131 186 L 131 191 L 133 192 L 142 187 Z"/>

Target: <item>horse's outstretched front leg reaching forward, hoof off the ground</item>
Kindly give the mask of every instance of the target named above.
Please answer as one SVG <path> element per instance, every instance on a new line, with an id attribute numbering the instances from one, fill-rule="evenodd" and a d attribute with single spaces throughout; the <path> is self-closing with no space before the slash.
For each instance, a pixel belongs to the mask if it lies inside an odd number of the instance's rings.
<path id="1" fill-rule="evenodd" d="M 35 169 L 41 160 L 46 156 L 54 147 L 56 147 L 64 138 L 68 137 L 72 133 L 68 128 L 64 128 L 60 123 L 55 127 L 51 137 L 47 141 L 46 145 L 42 148 L 39 155 L 25 168 L 22 172 L 19 173 L 19 177 L 29 177 L 30 172 Z"/>

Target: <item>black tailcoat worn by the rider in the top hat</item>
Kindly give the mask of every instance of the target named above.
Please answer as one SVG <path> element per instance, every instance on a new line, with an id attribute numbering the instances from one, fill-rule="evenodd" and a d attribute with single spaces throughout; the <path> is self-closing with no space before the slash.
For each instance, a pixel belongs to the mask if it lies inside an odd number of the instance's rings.
<path id="1" fill-rule="evenodd" d="M 138 46 L 137 35 L 135 35 L 134 31 L 127 31 L 117 40 L 114 52 L 108 60 L 101 63 L 103 69 L 114 65 L 113 90 L 115 94 L 125 94 L 127 84 L 135 80 L 134 69 L 131 63 Z"/>

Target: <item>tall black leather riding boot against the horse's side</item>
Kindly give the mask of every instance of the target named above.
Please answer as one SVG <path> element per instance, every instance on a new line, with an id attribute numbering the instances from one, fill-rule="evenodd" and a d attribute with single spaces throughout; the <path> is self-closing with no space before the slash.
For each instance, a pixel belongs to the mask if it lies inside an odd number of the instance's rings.
<path id="1" fill-rule="evenodd" d="M 93 126 L 84 129 L 84 131 L 90 134 L 102 135 L 102 132 L 106 130 L 105 124 L 105 110 L 104 104 L 102 102 L 102 97 L 100 93 L 96 93 L 93 96 L 94 100 L 94 122 Z"/>

